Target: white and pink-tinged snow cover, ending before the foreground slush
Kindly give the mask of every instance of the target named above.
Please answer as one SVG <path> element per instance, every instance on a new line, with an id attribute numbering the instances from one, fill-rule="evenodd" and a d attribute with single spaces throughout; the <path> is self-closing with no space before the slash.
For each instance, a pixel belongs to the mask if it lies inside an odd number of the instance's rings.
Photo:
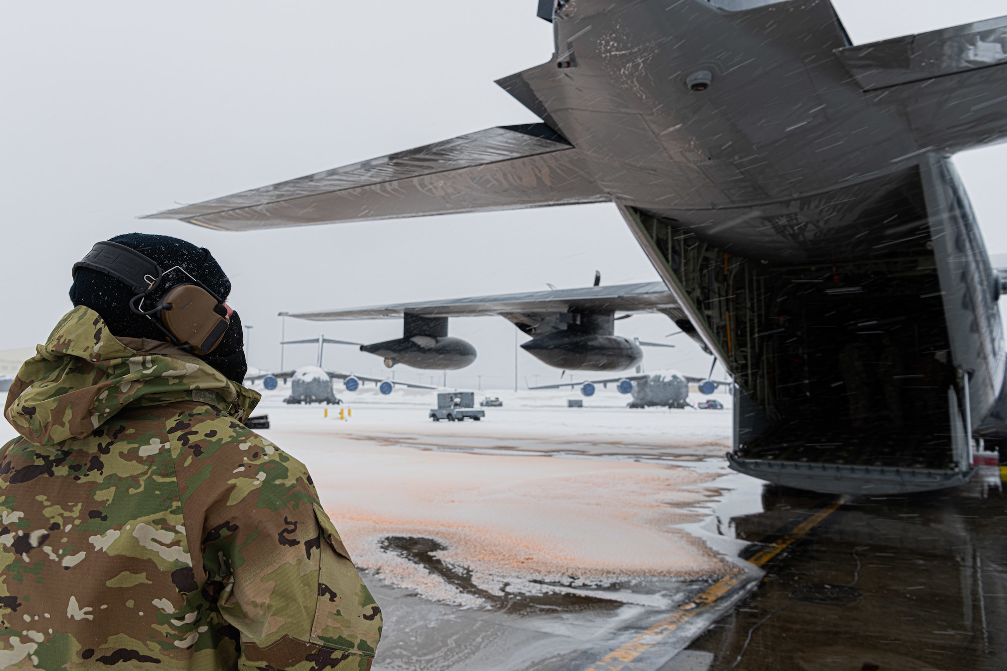
<path id="1" fill-rule="evenodd" d="M 505 405 L 485 408 L 484 420 L 432 422 L 433 392 L 344 393 L 327 417 L 324 406 L 284 404 L 286 395 L 282 385 L 265 392 L 257 412 L 272 428 L 262 433 L 307 464 L 354 561 L 392 585 L 473 607 L 503 590 L 732 570 L 680 528 L 721 494 L 729 411 L 630 410 L 616 393 L 567 408 L 579 394 L 494 391 Z M 429 558 L 466 574 L 472 589 L 390 549 L 387 539 L 404 537 L 436 541 Z"/>

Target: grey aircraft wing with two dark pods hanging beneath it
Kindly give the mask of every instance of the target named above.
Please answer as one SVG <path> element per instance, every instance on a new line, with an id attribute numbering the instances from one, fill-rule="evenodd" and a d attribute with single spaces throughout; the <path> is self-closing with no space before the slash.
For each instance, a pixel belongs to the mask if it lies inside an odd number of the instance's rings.
<path id="1" fill-rule="evenodd" d="M 412 368 L 450 371 L 468 366 L 475 361 L 475 348 L 461 339 L 448 337 L 448 318 L 486 314 L 498 314 L 531 336 L 532 340 L 521 347 L 536 359 L 568 371 L 623 371 L 642 360 L 640 347 L 675 347 L 614 333 L 615 321 L 634 312 L 666 312 L 677 307 L 675 297 L 663 282 L 603 287 L 600 286 L 601 276 L 597 273 L 595 282 L 594 286 L 578 289 L 286 314 L 315 321 L 401 317 L 403 334 L 398 340 L 374 345 L 325 341 L 357 345 L 362 352 L 383 358 L 388 368 L 403 364 Z M 624 314 L 616 316 L 616 312 Z M 680 319 L 679 322 L 686 332 L 696 334 L 688 319 Z"/>

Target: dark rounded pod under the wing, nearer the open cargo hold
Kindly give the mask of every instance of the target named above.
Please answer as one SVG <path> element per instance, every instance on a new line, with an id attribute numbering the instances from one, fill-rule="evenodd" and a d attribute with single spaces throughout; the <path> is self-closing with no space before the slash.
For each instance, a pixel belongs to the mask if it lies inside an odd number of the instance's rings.
<path id="1" fill-rule="evenodd" d="M 643 360 L 643 351 L 627 338 L 568 330 L 540 336 L 521 349 L 544 364 L 567 371 L 624 371 Z"/>

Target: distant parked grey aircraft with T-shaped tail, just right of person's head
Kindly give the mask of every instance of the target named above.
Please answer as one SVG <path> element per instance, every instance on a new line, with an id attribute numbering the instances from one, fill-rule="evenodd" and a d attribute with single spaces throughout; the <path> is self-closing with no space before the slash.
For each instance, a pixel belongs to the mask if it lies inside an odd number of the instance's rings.
<path id="1" fill-rule="evenodd" d="M 373 382 L 383 395 L 391 394 L 396 387 L 407 387 L 411 389 L 437 389 L 427 385 L 418 385 L 411 382 L 401 382 L 399 380 L 387 380 L 384 378 L 372 378 L 366 375 L 354 373 L 341 373 L 323 368 L 323 358 L 325 345 L 359 345 L 358 343 L 348 343 L 325 338 L 324 334 L 302 341 L 286 341 L 281 345 L 318 345 L 318 362 L 316 366 L 302 366 L 296 370 L 279 371 L 276 373 L 266 373 L 258 371 L 255 375 L 247 375 L 246 380 L 262 380 L 266 389 L 273 390 L 277 387 L 277 380 L 283 380 L 284 384 L 291 381 L 290 396 L 284 399 L 285 403 L 342 403 L 342 401 L 332 391 L 332 380 L 342 380 L 342 386 L 348 392 L 354 392 L 365 383 Z"/>

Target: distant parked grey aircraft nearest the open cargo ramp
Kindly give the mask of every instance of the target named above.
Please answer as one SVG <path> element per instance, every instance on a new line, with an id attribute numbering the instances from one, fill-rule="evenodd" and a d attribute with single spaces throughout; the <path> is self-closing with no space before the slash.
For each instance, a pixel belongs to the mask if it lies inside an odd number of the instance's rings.
<path id="1" fill-rule="evenodd" d="M 716 362 L 714 362 L 716 364 Z M 711 375 L 713 371 L 710 371 Z M 730 387 L 733 382 L 720 382 L 711 380 L 709 376 L 697 378 L 691 375 L 683 375 L 678 371 L 665 371 L 661 373 L 637 373 L 621 378 L 607 378 L 603 380 L 581 380 L 580 382 L 561 382 L 553 385 L 539 385 L 529 387 L 536 391 L 540 389 L 571 389 L 579 387 L 580 393 L 584 396 L 594 396 L 597 386 L 607 388 L 608 385 L 615 385 L 615 389 L 620 394 L 632 394 L 632 401 L 627 404 L 629 408 L 687 408 L 689 403 L 689 386 L 697 385 L 701 394 L 709 396 L 717 391 L 718 387 Z"/>

